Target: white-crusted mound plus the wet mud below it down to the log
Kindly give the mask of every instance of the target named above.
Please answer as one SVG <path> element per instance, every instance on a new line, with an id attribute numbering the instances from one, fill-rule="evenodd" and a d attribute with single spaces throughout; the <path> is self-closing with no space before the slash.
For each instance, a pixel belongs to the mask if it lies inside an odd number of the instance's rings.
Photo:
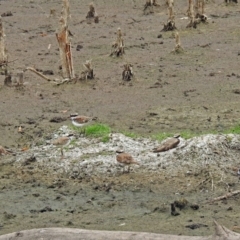
<path id="1" fill-rule="evenodd" d="M 63 126 L 52 139 L 71 132 Z M 181 138 L 177 148 L 161 153 L 152 152 L 159 142 L 148 138 L 113 133 L 103 143 L 72 137 L 63 157 L 52 139 L 1 157 L 0 234 L 72 227 L 207 236 L 214 220 L 237 231 L 238 135 Z M 140 166 L 123 172 L 117 149 Z"/>

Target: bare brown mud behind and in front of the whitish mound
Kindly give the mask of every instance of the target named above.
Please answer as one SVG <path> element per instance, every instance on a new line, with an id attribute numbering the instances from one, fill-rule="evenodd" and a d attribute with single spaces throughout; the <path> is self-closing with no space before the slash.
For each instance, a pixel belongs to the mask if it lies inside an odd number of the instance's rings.
<path id="1" fill-rule="evenodd" d="M 56 86 L 27 71 L 24 87 L 17 89 L 4 86 L 1 75 L 0 145 L 13 150 L 31 148 L 63 124 L 70 125 L 72 112 L 97 116 L 114 131 L 144 136 L 221 133 L 239 123 L 238 5 L 208 1 L 208 24 L 187 29 L 187 3 L 176 2 L 175 20 L 184 53 L 173 54 L 173 32 L 161 32 L 167 21 L 164 3 L 159 2 L 162 6 L 149 15 L 143 15 L 144 1 L 94 3 L 99 23 L 85 21 L 88 1 L 72 0 L 69 28 L 75 72 L 80 75 L 82 64 L 92 59 L 95 79 Z M 49 17 L 50 9 L 56 10 L 56 16 Z M 12 16 L 2 20 L 12 74 L 30 66 L 51 70 L 50 78 L 60 78 L 55 31 L 61 1 L 0 0 L 0 14 L 8 11 Z M 124 33 L 126 54 L 112 58 L 109 54 L 118 27 Z M 122 66 L 128 62 L 133 64 L 135 79 L 122 84 Z M 18 133 L 19 126 L 23 134 Z M 208 235 L 213 219 L 229 228 L 239 225 L 238 198 L 206 204 L 208 198 L 228 189 L 222 184 L 211 192 L 208 182 L 203 191 L 196 186 L 204 176 L 186 189 L 185 176 L 168 177 L 167 173 L 69 180 L 50 173 L 46 177 L 40 170 L 33 174 L 31 166 L 20 171 L 8 163 L 1 165 L 0 174 L 0 234 L 72 226 Z M 195 177 L 190 178 L 194 182 Z M 233 185 L 237 189 L 237 179 Z M 170 203 L 182 197 L 197 203 L 199 210 L 188 207 L 179 216 L 171 216 Z M 191 224 L 197 227 L 186 227 Z"/>

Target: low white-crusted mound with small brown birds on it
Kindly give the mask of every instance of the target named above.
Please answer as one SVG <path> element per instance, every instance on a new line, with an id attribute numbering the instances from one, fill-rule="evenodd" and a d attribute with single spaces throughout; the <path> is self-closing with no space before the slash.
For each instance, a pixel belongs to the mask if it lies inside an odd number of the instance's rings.
<path id="1" fill-rule="evenodd" d="M 161 153 L 152 151 L 160 144 L 158 141 L 132 139 L 113 133 L 110 134 L 110 140 L 103 143 L 101 139 L 74 136 L 74 132 L 67 126 L 54 133 L 52 139 L 69 134 L 73 136 L 70 144 L 64 147 L 63 158 L 60 148 L 48 141 L 42 146 L 33 146 L 26 152 L 16 154 L 16 162 L 22 164 L 34 156 L 39 165 L 72 177 L 80 173 L 114 175 L 123 171 L 116 161 L 116 150 L 123 150 L 140 163 L 140 166 L 131 167 L 135 172 L 165 171 L 174 175 L 180 172 L 194 174 L 209 166 L 224 171 L 227 167 L 238 165 L 240 157 L 240 151 L 237 150 L 240 137 L 234 134 L 203 135 L 189 140 L 180 138 L 177 148 Z"/>

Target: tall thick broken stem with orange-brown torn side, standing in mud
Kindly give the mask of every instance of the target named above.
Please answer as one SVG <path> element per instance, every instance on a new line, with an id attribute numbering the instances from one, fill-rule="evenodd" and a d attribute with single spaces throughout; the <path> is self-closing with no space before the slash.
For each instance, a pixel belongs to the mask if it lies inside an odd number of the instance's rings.
<path id="1" fill-rule="evenodd" d="M 73 79 L 75 73 L 73 69 L 73 58 L 71 51 L 71 43 L 68 35 L 68 20 L 70 18 L 69 0 L 63 0 L 62 16 L 60 18 L 60 32 L 56 33 L 59 44 L 60 58 L 62 62 L 63 78 Z"/>

